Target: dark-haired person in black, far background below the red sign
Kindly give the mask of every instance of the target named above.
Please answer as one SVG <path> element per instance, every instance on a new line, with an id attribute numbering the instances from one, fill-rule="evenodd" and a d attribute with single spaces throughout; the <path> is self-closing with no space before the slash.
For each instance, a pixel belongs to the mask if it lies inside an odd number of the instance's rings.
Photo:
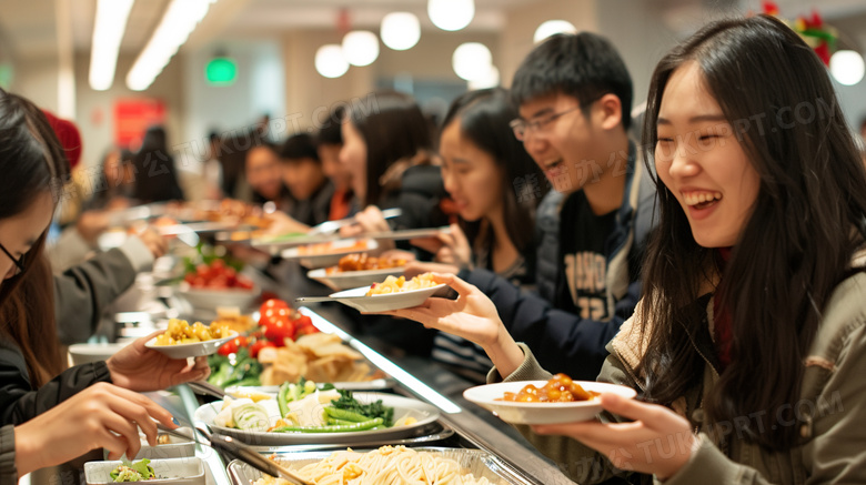
<path id="1" fill-rule="evenodd" d="M 141 149 L 132 158 L 135 185 L 133 196 L 142 203 L 182 201 L 178 166 L 169 151 L 165 129 L 151 127 L 144 133 Z"/>

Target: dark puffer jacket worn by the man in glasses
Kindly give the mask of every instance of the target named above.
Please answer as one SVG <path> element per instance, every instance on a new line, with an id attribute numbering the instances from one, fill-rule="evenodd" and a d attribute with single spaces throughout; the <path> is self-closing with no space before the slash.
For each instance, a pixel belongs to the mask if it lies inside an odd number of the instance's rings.
<path id="1" fill-rule="evenodd" d="M 538 274 L 536 284 L 544 292 L 542 297 L 535 293 L 522 292 L 507 280 L 486 270 L 463 270 L 459 276 L 486 294 L 496 305 L 503 324 L 517 342 L 524 342 L 544 368 L 563 372 L 574 380 L 595 381 L 602 368 L 607 351 L 605 345 L 620 331 L 620 325 L 632 316 L 641 297 L 640 265 L 643 261 L 645 241 L 653 225 L 655 189 L 652 180 L 631 146 L 626 185 L 623 204 L 617 213 L 617 223 L 608 235 L 608 282 L 611 294 L 611 319 L 606 322 L 581 319 L 573 313 L 557 310 L 557 294 L 564 285 L 564 264 L 558 240 L 562 231 L 571 230 L 571 221 L 556 221 L 543 225 L 544 230 L 555 230 L 557 238 L 542 239 L 537 250 L 540 270 L 555 269 L 555 281 L 545 280 Z M 548 196 L 557 202 L 558 198 Z M 561 206 L 558 203 L 557 206 Z M 550 208 L 554 208 L 553 204 Z M 550 220 L 550 213 L 538 214 Z M 545 221 L 541 221 L 544 223 Z M 614 265 L 613 260 L 618 259 Z M 617 270 L 614 270 L 614 266 Z M 556 283 L 555 285 L 553 283 Z M 557 291 L 551 292 L 552 289 Z M 552 300 L 548 300 L 552 299 Z"/>

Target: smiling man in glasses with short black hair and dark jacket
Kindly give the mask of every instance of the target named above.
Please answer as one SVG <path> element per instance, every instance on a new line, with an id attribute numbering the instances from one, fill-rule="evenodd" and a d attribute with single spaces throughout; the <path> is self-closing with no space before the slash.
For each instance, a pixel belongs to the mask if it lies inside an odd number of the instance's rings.
<path id="1" fill-rule="evenodd" d="M 544 368 L 594 381 L 640 299 L 653 224 L 655 188 L 627 135 L 632 79 L 606 39 L 560 34 L 523 61 L 512 99 L 514 134 L 554 189 L 536 213 L 538 295 L 483 270 L 460 276 Z"/>

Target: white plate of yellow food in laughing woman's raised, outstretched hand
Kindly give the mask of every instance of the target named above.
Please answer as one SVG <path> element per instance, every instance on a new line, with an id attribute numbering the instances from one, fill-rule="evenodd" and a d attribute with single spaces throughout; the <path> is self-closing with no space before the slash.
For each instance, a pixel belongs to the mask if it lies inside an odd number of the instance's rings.
<path id="1" fill-rule="evenodd" d="M 443 294 L 447 285 L 436 283 L 433 273 L 405 276 L 387 276 L 382 283 L 345 290 L 324 297 L 300 297 L 299 303 L 336 301 L 360 312 L 381 313 L 391 310 L 411 309 L 424 303 L 435 294 Z M 443 292 L 443 293 L 440 293 Z"/>

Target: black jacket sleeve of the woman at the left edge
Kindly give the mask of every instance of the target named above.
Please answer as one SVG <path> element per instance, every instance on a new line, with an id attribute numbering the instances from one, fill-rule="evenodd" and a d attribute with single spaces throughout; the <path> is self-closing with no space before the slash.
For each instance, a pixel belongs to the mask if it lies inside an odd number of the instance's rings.
<path id="1" fill-rule="evenodd" d="M 24 423 L 98 382 L 111 382 L 104 362 L 70 367 L 36 390 L 21 351 L 0 337 L 0 426 Z"/>

